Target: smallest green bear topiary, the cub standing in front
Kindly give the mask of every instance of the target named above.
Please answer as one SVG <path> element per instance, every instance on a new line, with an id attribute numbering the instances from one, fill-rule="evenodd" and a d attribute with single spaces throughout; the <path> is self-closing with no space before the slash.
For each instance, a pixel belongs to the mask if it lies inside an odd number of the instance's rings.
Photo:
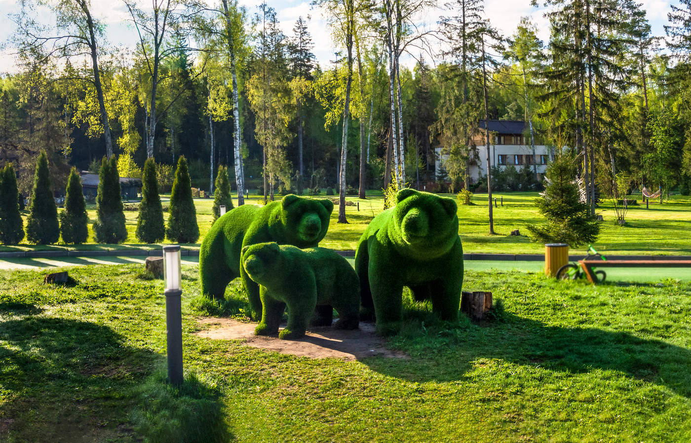
<path id="1" fill-rule="evenodd" d="M 276 334 L 286 306 L 288 324 L 278 334 L 281 339 L 303 337 L 317 305 L 339 313 L 334 328 L 357 328 L 360 322 L 357 274 L 337 252 L 278 243 L 245 246 L 242 252 L 243 269 L 260 285 L 263 311 L 261 322 L 254 330 L 256 335 Z"/>

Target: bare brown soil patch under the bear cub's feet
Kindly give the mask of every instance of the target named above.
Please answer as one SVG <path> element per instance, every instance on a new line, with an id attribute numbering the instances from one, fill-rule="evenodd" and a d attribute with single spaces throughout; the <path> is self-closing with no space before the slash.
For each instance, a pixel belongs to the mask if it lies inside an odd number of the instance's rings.
<path id="1" fill-rule="evenodd" d="M 299 340 L 281 340 L 278 337 L 254 335 L 256 323 L 243 323 L 233 319 L 200 317 L 198 322 L 204 330 L 196 332 L 199 337 L 214 340 L 243 340 L 253 348 L 260 348 L 311 359 L 337 358 L 361 360 L 367 357 L 408 359 L 403 352 L 386 348 L 386 341 L 375 333 L 372 323 L 360 323 L 356 330 L 337 330 L 329 327 L 310 328 Z"/>

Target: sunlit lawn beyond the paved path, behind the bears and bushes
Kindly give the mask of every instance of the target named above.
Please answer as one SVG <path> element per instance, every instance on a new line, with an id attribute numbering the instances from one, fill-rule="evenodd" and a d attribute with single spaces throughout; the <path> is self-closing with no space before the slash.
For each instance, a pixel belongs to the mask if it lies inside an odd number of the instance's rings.
<path id="1" fill-rule="evenodd" d="M 459 234 L 463 241 L 464 252 L 506 253 L 506 254 L 543 254 L 545 247 L 533 243 L 525 235 L 525 226 L 529 223 L 542 223 L 542 216 L 534 205 L 538 197 L 534 192 L 510 192 L 495 194 L 498 198 L 504 198 L 504 206 L 494 209 L 494 226 L 498 235 L 490 236 L 489 219 L 486 208 L 486 194 L 475 194 L 474 206 L 459 206 L 458 217 L 460 222 Z M 162 196 L 163 204 L 167 205 L 168 196 Z M 348 197 L 348 200 L 359 202 L 359 210 L 356 206 L 347 206 L 347 225 L 337 223 L 338 211 L 334 209 L 329 232 L 320 243 L 320 246 L 332 249 L 355 249 L 363 230 L 370 220 L 384 207 L 381 192 L 371 191 L 367 200 L 359 200 L 357 197 Z M 211 227 L 211 207 L 214 200 L 211 198 L 196 198 L 197 220 L 201 238 Z M 251 195 L 250 204 L 258 204 L 259 198 Z M 627 216 L 627 225 L 619 227 L 614 225 L 614 209 L 611 201 L 604 200 L 598 209 L 605 222 L 602 225 L 600 237 L 595 243 L 596 249 L 603 254 L 691 254 L 691 197 L 672 196 L 670 200 L 659 205 L 654 202 L 650 209 L 645 206 L 632 207 Z M 95 220 L 95 210 L 88 210 L 91 222 Z M 135 227 L 137 211 L 125 211 L 126 225 L 129 233 L 129 242 L 135 242 Z M 26 214 L 25 214 L 26 215 Z M 89 227 L 91 232 L 91 225 Z M 520 229 L 522 236 L 509 236 L 513 229 Z M 93 238 L 90 234 L 89 238 Z M 78 249 L 122 249 L 129 247 L 151 247 L 138 243 L 125 245 L 97 245 L 86 243 L 79 245 Z M 195 248 L 197 245 L 187 245 Z M 19 245 L 16 247 L 0 246 L 0 252 L 26 249 L 74 249 L 69 245 Z M 583 252 L 584 248 L 572 250 L 575 254 Z M 584 252 L 585 255 L 585 252 Z"/>

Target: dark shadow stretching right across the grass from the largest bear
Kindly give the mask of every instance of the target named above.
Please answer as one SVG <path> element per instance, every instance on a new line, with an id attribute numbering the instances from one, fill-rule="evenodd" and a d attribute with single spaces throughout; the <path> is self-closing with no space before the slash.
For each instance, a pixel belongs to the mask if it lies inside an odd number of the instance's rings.
<path id="1" fill-rule="evenodd" d="M 667 386 L 691 398 L 691 350 L 687 348 L 626 332 L 546 326 L 508 313 L 504 320 L 404 340 L 401 348 L 405 352 L 412 349 L 411 354 L 422 355 L 419 358 L 368 359 L 365 363 L 379 373 L 411 381 L 463 379 L 473 369 L 473 361 L 482 358 L 565 373 L 599 368 Z"/>

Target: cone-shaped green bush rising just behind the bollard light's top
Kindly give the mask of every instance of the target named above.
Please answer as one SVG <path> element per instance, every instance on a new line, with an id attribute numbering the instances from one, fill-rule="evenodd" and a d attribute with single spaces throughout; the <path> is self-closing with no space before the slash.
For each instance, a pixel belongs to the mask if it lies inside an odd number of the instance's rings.
<path id="1" fill-rule="evenodd" d="M 170 217 L 166 230 L 168 239 L 176 243 L 196 243 L 199 238 L 197 211 L 192 200 L 191 187 L 187 160 L 180 155 L 171 191 Z"/>

